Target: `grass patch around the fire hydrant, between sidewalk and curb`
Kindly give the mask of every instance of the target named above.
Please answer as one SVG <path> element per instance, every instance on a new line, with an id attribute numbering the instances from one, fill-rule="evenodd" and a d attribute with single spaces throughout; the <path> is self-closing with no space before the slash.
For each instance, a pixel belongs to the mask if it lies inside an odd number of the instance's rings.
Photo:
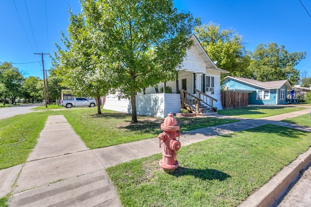
<path id="1" fill-rule="evenodd" d="M 106 170 L 124 207 L 230 207 L 242 203 L 310 143 L 311 133 L 265 125 L 183 146 L 173 175 L 160 169 L 161 154 Z"/>

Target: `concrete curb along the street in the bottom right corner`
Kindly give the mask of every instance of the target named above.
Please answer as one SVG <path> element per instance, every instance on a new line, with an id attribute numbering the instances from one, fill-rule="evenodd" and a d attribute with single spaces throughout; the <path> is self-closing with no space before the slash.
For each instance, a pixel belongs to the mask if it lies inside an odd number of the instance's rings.
<path id="1" fill-rule="evenodd" d="M 301 170 L 306 169 L 310 164 L 311 147 L 250 195 L 239 207 L 277 206 L 290 186 L 297 181 Z"/>

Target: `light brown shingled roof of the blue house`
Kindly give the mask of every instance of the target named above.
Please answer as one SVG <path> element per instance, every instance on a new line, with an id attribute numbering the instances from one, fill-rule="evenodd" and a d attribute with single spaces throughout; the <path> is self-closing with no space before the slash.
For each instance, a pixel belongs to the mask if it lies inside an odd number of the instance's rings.
<path id="1" fill-rule="evenodd" d="M 237 78 L 237 77 L 232 77 L 232 76 L 227 76 L 225 80 L 227 79 L 233 79 L 233 80 L 239 80 L 241 82 L 257 86 L 263 89 L 279 89 L 281 88 L 284 84 L 287 86 L 288 90 L 292 90 L 291 84 L 288 82 L 288 80 L 276 80 L 276 81 L 268 81 L 268 82 L 260 82 L 258 80 L 254 79 L 245 79 L 245 78 Z"/>

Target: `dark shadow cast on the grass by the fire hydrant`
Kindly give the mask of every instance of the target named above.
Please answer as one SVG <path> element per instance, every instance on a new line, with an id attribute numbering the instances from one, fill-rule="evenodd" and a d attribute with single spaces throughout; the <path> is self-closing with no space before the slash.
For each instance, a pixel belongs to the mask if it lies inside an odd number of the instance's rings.
<path id="1" fill-rule="evenodd" d="M 193 175 L 194 177 L 200 178 L 202 180 L 219 180 L 219 181 L 223 181 L 228 177 L 231 177 L 230 175 L 215 169 L 200 170 L 187 167 L 178 167 L 173 175 L 176 177 L 181 177 L 184 175 Z"/>

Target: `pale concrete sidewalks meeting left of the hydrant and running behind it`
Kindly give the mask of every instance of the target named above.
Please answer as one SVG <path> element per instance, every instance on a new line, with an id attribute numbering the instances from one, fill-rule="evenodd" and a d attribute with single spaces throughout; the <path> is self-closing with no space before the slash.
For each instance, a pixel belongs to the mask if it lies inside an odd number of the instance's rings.
<path id="1" fill-rule="evenodd" d="M 185 146 L 264 124 L 294 127 L 311 132 L 311 128 L 308 127 L 279 122 L 284 118 L 309 112 L 308 109 L 256 120 L 241 118 L 240 122 L 183 132 L 180 141 Z M 89 150 L 64 116 L 49 116 L 27 162 L 0 171 L 0 197 L 12 193 L 9 202 L 11 207 L 120 207 L 118 194 L 104 169 L 131 159 L 160 153 L 162 149 L 158 145 L 158 139 L 153 138 Z M 141 146 L 144 146 L 144 151 L 141 151 Z M 311 158 L 311 151 L 309 154 L 307 157 Z M 301 166 L 303 165 L 298 165 L 295 170 Z M 295 179 L 295 176 L 291 175 L 291 179 Z M 258 206 L 260 199 L 256 198 L 257 201 L 254 201 L 251 197 L 242 206 Z M 266 198 L 263 200 L 267 201 Z M 261 199 L 259 204 L 263 204 L 263 200 Z"/>

